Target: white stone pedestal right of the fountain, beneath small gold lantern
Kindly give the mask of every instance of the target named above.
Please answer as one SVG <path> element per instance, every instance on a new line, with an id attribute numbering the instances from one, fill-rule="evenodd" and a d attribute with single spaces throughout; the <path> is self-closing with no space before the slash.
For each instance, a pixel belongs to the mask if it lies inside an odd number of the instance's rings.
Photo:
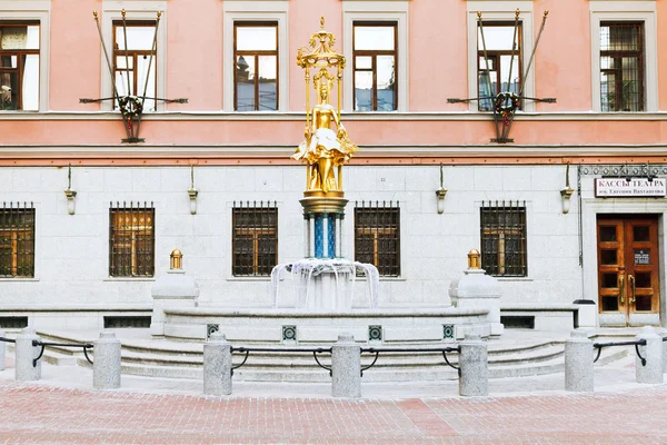
<path id="1" fill-rule="evenodd" d="M 500 294 L 498 280 L 485 275 L 485 270 L 479 268 L 464 270 L 464 276 L 449 285 L 449 297 L 454 307 L 489 310 L 487 319 L 494 337 L 499 337 L 504 330 L 500 323 Z"/>

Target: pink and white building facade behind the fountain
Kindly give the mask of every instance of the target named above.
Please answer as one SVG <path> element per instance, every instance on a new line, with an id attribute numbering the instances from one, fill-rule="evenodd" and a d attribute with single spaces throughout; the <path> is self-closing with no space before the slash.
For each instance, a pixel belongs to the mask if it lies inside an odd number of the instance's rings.
<path id="1" fill-rule="evenodd" d="M 270 306 L 270 267 L 303 255 L 305 168 L 290 155 L 307 101 L 295 61 L 325 17 L 347 58 L 341 120 L 360 147 L 346 167 L 342 250 L 379 267 L 384 307 L 449 305 L 477 248 L 501 281 L 508 326 L 556 329 L 576 318 L 575 300 L 597 307 L 598 325 L 665 325 L 665 9 L 0 0 L 1 317 L 145 317 L 175 248 L 200 305 Z M 188 100 L 146 102 L 143 141 L 123 142 L 113 100 L 80 102 L 113 97 L 112 79 L 121 96 L 129 86 Z M 511 141 L 498 144 L 489 99 L 448 102 L 487 85 L 556 102 L 521 100 Z"/>

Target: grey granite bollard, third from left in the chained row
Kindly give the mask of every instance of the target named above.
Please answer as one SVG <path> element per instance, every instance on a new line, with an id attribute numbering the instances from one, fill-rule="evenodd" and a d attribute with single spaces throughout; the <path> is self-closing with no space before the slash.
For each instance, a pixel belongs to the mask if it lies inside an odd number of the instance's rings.
<path id="1" fill-rule="evenodd" d="M 203 394 L 231 394 L 231 345 L 222 333 L 212 333 L 203 344 Z"/>

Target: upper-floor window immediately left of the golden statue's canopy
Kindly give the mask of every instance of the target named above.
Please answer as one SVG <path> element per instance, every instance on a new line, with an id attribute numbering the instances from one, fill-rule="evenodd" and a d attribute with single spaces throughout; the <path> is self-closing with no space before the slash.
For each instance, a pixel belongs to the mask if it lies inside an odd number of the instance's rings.
<path id="1" fill-rule="evenodd" d="M 235 23 L 235 110 L 278 109 L 278 23 Z"/>

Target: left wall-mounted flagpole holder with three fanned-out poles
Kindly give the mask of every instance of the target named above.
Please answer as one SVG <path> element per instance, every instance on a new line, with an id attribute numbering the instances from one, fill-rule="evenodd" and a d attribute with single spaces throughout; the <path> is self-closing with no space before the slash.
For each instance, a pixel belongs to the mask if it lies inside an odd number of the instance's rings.
<path id="1" fill-rule="evenodd" d="M 153 59 L 156 58 L 156 53 L 157 53 L 157 44 L 158 44 L 158 29 L 160 27 L 160 17 L 162 16 L 161 11 L 158 11 L 157 13 L 157 18 L 156 18 L 156 31 L 153 34 L 153 39 L 152 39 L 152 46 L 149 52 L 149 59 L 148 59 L 148 68 L 146 70 L 146 82 L 143 85 L 143 92 L 139 93 L 139 86 L 137 86 L 137 88 L 133 88 L 133 81 L 130 80 L 130 71 L 135 70 L 136 68 L 132 68 L 130 66 L 130 57 L 129 57 L 129 49 L 128 49 L 128 23 L 126 21 L 126 10 L 123 9 L 121 11 L 121 17 L 122 17 L 122 33 L 123 33 L 123 40 L 125 40 L 125 51 L 123 50 L 113 50 L 112 57 L 115 62 L 111 63 L 111 60 L 109 58 L 109 52 L 107 51 L 107 46 L 104 44 L 104 38 L 102 36 L 102 30 L 100 28 L 100 21 L 98 18 L 98 13 L 97 11 L 92 11 L 92 16 L 94 18 L 94 22 L 97 24 L 98 28 L 98 33 L 100 36 L 100 42 L 102 44 L 102 51 L 104 53 L 104 59 L 107 60 L 107 66 L 109 67 L 109 73 L 111 76 L 111 85 L 113 87 L 113 97 L 110 98 L 101 98 L 101 99 L 79 99 L 80 103 L 93 103 L 93 102 L 103 102 L 103 101 L 113 101 L 116 102 L 116 106 L 118 107 L 118 109 L 120 110 L 120 116 L 122 117 L 123 123 L 125 123 L 125 130 L 126 130 L 126 135 L 127 138 L 122 139 L 122 142 L 127 142 L 127 144 L 137 144 L 137 142 L 143 142 L 145 139 L 139 138 L 139 129 L 141 128 L 141 118 L 143 116 L 143 111 L 145 111 L 145 107 L 146 107 L 146 101 L 150 100 L 153 102 L 165 102 L 165 103 L 187 103 L 188 99 L 185 98 L 180 98 L 180 99 L 161 99 L 158 97 L 147 97 L 147 91 L 148 91 L 148 82 L 149 79 L 151 78 L 150 72 L 151 72 L 151 67 L 152 67 L 152 62 Z M 118 56 L 117 52 L 121 51 L 125 55 L 125 68 L 118 68 L 117 67 L 117 60 L 119 58 L 122 59 L 121 56 Z M 127 88 L 125 88 L 125 95 L 120 95 L 119 89 L 118 89 L 118 85 L 116 82 L 116 73 L 117 71 L 126 71 L 126 78 L 127 78 Z M 122 81 L 122 72 L 119 75 L 120 80 Z"/>

